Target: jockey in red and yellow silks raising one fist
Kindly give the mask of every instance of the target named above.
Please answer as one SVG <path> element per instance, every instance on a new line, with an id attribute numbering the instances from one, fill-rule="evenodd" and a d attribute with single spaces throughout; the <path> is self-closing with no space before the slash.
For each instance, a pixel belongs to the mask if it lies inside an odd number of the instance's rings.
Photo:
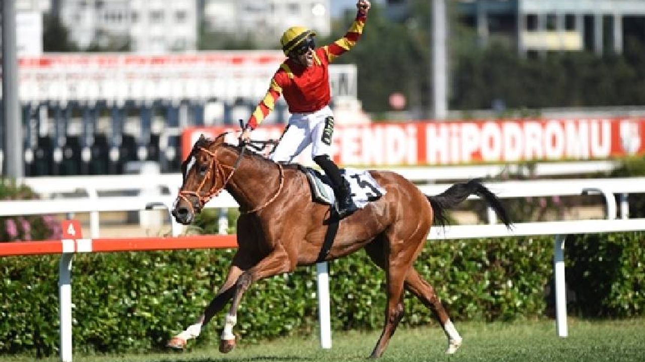
<path id="1" fill-rule="evenodd" d="M 243 140 L 250 140 L 250 131 L 255 129 L 273 110 L 275 102 L 284 94 L 292 113 L 284 129 L 280 143 L 271 159 L 275 162 L 292 162 L 306 146 L 312 144 L 313 161 L 330 178 L 336 196 L 336 211 L 344 218 L 357 210 L 352 202 L 350 187 L 345 182 L 338 166 L 330 158 L 333 133 L 333 113 L 329 106 L 329 63 L 352 48 L 359 37 L 370 1 L 359 0 L 358 12 L 348 32 L 332 44 L 315 47 L 316 33 L 302 26 L 288 28 L 280 39 L 284 55 L 288 57 L 271 79 L 269 90 L 259 102 L 244 127 Z"/>

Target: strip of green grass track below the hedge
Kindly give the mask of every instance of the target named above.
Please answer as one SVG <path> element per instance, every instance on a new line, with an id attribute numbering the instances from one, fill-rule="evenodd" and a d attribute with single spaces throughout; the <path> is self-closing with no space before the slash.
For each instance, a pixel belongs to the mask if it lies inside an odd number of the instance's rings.
<path id="1" fill-rule="evenodd" d="M 569 337 L 559 338 L 553 321 L 515 323 L 457 323 L 464 345 L 446 356 L 446 339 L 439 327 L 399 329 L 382 362 L 509 361 L 580 362 L 645 361 L 645 319 L 622 321 L 569 320 Z M 335 332 L 331 350 L 321 350 L 316 338 L 290 337 L 258 344 L 241 343 L 224 355 L 217 347 L 189 348 L 186 352 L 74 355 L 75 362 L 255 362 L 255 361 L 364 361 L 380 332 Z M 3 362 L 54 362 L 57 357 L 0 356 Z"/>

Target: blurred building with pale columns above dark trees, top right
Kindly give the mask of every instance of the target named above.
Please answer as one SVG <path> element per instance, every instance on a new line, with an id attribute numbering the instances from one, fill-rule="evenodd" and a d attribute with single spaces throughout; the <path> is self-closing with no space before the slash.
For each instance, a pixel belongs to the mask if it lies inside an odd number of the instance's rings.
<path id="1" fill-rule="evenodd" d="M 398 19 L 411 0 L 387 0 Z M 593 51 L 622 53 L 627 37 L 645 43 L 645 0 L 458 0 L 461 23 L 479 44 L 501 41 L 519 53 Z"/>

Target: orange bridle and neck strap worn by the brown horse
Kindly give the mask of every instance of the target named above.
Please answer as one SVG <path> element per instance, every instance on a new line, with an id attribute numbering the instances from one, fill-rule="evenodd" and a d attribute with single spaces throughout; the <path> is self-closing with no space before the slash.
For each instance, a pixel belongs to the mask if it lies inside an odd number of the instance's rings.
<path id="1" fill-rule="evenodd" d="M 206 205 L 206 203 L 208 201 L 210 201 L 212 198 L 218 196 L 224 190 L 224 188 L 226 187 L 228 182 L 233 177 L 233 173 L 235 173 L 235 171 L 237 170 L 237 167 L 239 166 L 240 162 L 242 161 L 242 158 L 244 156 L 244 151 L 246 150 L 246 148 L 244 146 L 242 146 L 242 150 L 240 151 L 239 155 L 237 156 L 237 159 L 235 160 L 235 164 L 233 164 L 233 167 L 225 165 L 225 164 L 217 164 L 217 162 L 216 162 L 217 158 L 215 157 L 215 153 L 213 151 L 211 151 L 210 149 L 203 148 L 203 147 L 198 147 L 197 150 L 203 151 L 204 153 L 210 155 L 210 157 L 211 157 L 211 162 L 210 162 L 210 164 L 208 164 L 208 170 L 206 170 L 206 176 L 204 176 L 203 180 L 201 181 L 201 183 L 199 184 L 199 186 L 197 187 L 197 189 L 195 191 L 180 190 L 179 195 L 177 196 L 178 198 L 181 198 L 182 200 L 184 200 L 186 202 L 186 204 L 190 205 L 190 209 L 191 209 L 192 213 L 195 213 L 195 207 L 194 207 L 193 203 L 188 199 L 187 196 L 194 196 L 197 199 L 197 202 L 199 203 L 199 205 L 198 205 L 199 209 L 200 210 L 203 209 L 204 205 Z M 280 174 L 280 184 L 279 184 L 278 189 L 275 192 L 275 194 L 272 196 L 272 198 L 270 198 L 263 205 L 255 207 L 252 210 L 241 211 L 241 214 L 250 214 L 250 213 L 255 213 L 256 211 L 260 211 L 261 209 L 264 209 L 264 207 L 266 207 L 267 205 L 271 204 L 277 198 L 277 196 L 280 195 L 280 193 L 281 193 L 281 191 L 283 189 L 283 185 L 284 185 L 284 172 L 283 172 L 283 167 L 282 167 L 281 164 L 277 164 L 277 166 L 278 166 L 278 171 L 279 171 L 279 174 Z M 230 171 L 230 173 L 228 173 L 228 175 L 225 175 L 225 172 L 224 172 L 224 169 L 223 169 L 224 167 L 227 167 L 227 168 L 231 169 L 231 171 Z M 213 168 L 214 168 L 214 171 L 213 171 Z M 219 189 L 218 189 L 217 188 L 217 183 L 215 182 L 215 180 L 217 180 L 220 176 L 223 179 L 223 182 L 222 182 L 222 186 L 219 187 Z M 206 181 L 209 180 L 211 177 L 215 177 L 213 179 L 213 186 L 208 190 L 207 193 L 203 194 L 201 192 L 201 190 L 204 187 L 204 185 L 206 184 Z"/>

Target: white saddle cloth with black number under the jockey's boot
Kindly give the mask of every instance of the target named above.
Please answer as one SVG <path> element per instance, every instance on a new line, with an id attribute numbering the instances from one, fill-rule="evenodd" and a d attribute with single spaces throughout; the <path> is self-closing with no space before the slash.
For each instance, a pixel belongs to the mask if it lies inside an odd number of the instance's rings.
<path id="1" fill-rule="evenodd" d="M 333 205 L 335 196 L 329 177 L 311 167 L 303 167 L 303 171 L 312 189 L 313 200 L 321 204 Z M 369 171 L 341 169 L 341 176 L 350 184 L 352 200 L 359 209 L 365 207 L 370 201 L 379 200 L 386 193 Z"/>

